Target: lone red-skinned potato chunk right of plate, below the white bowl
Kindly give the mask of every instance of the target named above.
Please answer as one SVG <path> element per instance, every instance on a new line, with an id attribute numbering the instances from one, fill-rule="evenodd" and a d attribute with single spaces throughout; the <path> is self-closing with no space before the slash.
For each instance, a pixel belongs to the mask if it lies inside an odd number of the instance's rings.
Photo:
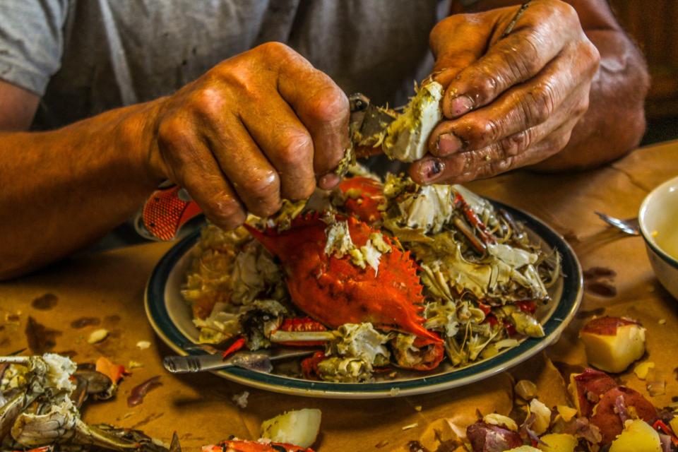
<path id="1" fill-rule="evenodd" d="M 579 337 L 589 364 L 607 372 L 622 372 L 645 353 L 645 328 L 629 319 L 593 319 Z"/>

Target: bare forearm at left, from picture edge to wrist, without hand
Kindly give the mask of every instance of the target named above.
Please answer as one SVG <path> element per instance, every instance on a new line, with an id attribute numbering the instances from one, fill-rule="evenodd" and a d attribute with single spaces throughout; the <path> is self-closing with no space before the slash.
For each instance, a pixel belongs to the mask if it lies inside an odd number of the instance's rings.
<path id="1" fill-rule="evenodd" d="M 157 183 L 157 103 L 57 131 L 0 133 L 0 279 L 66 256 L 124 222 Z"/>

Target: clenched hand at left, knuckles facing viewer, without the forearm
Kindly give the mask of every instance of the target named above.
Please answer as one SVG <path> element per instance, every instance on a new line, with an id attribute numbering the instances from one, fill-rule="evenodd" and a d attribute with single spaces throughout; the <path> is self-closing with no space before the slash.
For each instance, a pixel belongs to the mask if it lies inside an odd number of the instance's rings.
<path id="1" fill-rule="evenodd" d="M 266 216 L 338 182 L 349 106 L 337 85 L 284 44 L 222 61 L 160 100 L 148 160 L 186 188 L 217 225 Z"/>

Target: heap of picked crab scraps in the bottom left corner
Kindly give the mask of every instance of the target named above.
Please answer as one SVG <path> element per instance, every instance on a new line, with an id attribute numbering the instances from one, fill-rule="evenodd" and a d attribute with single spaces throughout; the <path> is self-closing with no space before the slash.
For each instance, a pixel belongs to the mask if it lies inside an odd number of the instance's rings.
<path id="1" fill-rule="evenodd" d="M 113 381 L 78 370 L 66 357 L 0 357 L 0 445 L 3 449 L 68 444 L 114 451 L 166 452 L 141 432 L 88 425 L 78 408 L 88 396 L 110 396 Z"/>

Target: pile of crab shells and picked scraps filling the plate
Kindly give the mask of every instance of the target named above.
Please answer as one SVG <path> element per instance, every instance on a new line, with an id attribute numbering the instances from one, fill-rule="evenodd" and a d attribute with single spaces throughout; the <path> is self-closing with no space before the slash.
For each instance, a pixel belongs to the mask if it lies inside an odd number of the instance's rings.
<path id="1" fill-rule="evenodd" d="M 350 174 L 272 218 L 203 229 L 182 290 L 201 343 L 317 346 L 295 376 L 361 382 L 544 335 L 535 311 L 559 278 L 556 252 L 463 186 Z"/>

